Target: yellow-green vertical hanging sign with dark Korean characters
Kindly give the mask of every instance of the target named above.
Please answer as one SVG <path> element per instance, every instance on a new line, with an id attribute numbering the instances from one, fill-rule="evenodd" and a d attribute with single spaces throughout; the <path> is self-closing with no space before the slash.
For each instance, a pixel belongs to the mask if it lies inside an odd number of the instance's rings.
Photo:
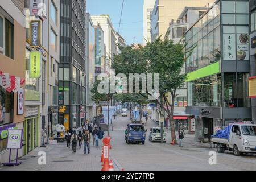
<path id="1" fill-rule="evenodd" d="M 40 51 L 30 52 L 30 78 L 40 78 L 41 60 L 42 58 Z"/>

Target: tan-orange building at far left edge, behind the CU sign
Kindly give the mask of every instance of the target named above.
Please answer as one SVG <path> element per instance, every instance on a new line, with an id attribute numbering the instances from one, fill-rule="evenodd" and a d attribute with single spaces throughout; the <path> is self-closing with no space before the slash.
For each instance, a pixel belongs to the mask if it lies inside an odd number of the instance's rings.
<path id="1" fill-rule="evenodd" d="M 9 128 L 24 129 L 24 97 L 19 96 L 24 92 L 24 84 L 21 85 L 22 91 L 9 92 L 8 88 L 2 84 L 3 75 L 19 77 L 25 79 L 25 14 L 24 1 L 0 1 L 0 164 L 8 162 L 9 151 L 7 150 L 7 138 Z M 7 77 L 8 75 L 6 75 Z M 9 78 L 8 78 L 9 79 Z M 24 95 L 23 95 L 24 96 Z M 19 104 L 18 104 L 19 103 Z M 19 113 L 18 113 L 19 111 Z M 20 112 L 22 111 L 22 112 Z M 25 131 L 23 130 L 23 134 Z M 23 135 L 23 140 L 26 135 Z M 18 156 L 24 155 L 25 144 L 19 150 Z M 12 152 L 11 160 L 15 159 L 16 152 Z"/>

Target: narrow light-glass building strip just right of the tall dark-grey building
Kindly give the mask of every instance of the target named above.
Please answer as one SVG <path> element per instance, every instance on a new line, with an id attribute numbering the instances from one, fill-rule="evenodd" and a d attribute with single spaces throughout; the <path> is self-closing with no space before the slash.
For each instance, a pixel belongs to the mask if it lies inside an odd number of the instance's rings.
<path id="1" fill-rule="evenodd" d="M 95 82 L 95 61 L 96 61 L 96 52 L 95 52 L 95 29 L 93 26 L 92 19 L 90 18 L 90 14 L 87 13 L 86 19 L 87 26 L 87 61 L 86 61 L 86 118 L 89 121 L 93 120 L 93 117 L 96 114 L 96 106 L 94 101 L 92 100 L 91 89 L 93 87 L 93 83 Z"/>

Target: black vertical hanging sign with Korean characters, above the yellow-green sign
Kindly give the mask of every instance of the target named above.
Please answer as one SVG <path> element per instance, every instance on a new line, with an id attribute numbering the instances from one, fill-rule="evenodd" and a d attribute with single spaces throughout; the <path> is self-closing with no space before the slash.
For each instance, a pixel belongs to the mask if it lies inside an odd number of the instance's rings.
<path id="1" fill-rule="evenodd" d="M 40 20 L 30 21 L 30 47 L 41 46 L 41 24 Z"/>

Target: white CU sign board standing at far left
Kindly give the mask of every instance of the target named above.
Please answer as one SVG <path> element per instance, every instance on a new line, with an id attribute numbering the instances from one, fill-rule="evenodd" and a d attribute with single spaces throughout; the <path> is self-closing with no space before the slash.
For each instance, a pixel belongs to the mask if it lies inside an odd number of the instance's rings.
<path id="1" fill-rule="evenodd" d="M 8 130 L 8 149 L 21 149 L 22 148 L 22 129 L 9 129 Z"/>

